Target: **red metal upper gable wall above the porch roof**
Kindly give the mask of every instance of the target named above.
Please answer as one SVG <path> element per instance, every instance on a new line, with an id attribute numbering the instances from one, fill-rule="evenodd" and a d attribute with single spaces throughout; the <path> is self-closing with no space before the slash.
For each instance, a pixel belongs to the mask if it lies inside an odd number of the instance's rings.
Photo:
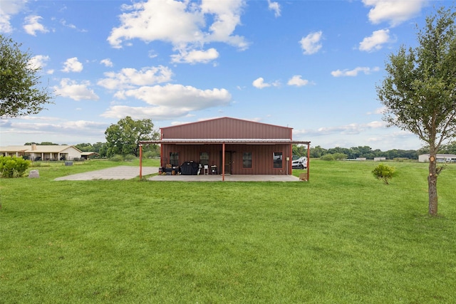
<path id="1" fill-rule="evenodd" d="M 163 127 L 162 139 L 291 139 L 291 128 L 222 117 Z"/>

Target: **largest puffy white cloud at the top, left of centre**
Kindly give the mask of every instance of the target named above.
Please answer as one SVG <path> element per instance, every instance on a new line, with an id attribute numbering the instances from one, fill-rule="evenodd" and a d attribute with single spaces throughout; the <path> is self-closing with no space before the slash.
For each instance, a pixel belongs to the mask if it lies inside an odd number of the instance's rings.
<path id="1" fill-rule="evenodd" d="M 125 12 L 119 17 L 120 26 L 112 29 L 108 42 L 114 48 L 121 48 L 124 41 L 135 38 L 145 42 L 165 41 L 172 43 L 175 51 L 180 53 L 175 61 L 189 62 L 182 54 L 190 53 L 195 55 L 190 63 L 197 62 L 198 58 L 206 63 L 214 58 L 214 51 L 203 51 L 200 56 L 192 51 L 203 50 L 205 44 L 212 42 L 227 43 L 240 50 L 248 47 L 244 37 L 234 35 L 241 23 L 244 5 L 244 0 L 203 0 L 201 4 L 155 0 L 124 5 Z M 211 24 L 207 24 L 209 20 Z"/>

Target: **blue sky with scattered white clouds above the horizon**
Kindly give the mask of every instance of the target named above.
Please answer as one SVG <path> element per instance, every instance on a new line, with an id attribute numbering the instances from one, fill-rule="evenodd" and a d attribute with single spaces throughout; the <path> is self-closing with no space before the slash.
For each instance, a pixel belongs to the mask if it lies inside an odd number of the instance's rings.
<path id="1" fill-rule="evenodd" d="M 311 146 L 416 150 L 382 120 L 390 53 L 451 1 L 0 0 L 55 104 L 2 117 L 0 145 L 105 142 L 129 115 L 156 129 L 214 117 L 294 128 Z"/>

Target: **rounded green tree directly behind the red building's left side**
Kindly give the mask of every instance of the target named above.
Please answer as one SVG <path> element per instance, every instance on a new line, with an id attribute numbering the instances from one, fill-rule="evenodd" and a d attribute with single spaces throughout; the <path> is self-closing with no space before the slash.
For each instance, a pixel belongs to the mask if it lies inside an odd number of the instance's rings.
<path id="1" fill-rule="evenodd" d="M 150 119 L 133 120 L 130 116 L 110 125 L 105 131 L 107 156 L 134 154 L 138 157 L 141 140 L 157 140 L 159 135 L 153 127 Z"/>

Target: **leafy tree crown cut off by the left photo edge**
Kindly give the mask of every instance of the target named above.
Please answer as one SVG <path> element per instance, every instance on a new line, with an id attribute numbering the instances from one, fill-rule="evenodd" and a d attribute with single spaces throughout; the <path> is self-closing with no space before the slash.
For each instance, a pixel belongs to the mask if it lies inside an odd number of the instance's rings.
<path id="1" fill-rule="evenodd" d="M 0 117 L 36 114 L 53 102 L 46 88 L 39 88 L 38 71 L 31 54 L 21 44 L 0 34 Z"/>

